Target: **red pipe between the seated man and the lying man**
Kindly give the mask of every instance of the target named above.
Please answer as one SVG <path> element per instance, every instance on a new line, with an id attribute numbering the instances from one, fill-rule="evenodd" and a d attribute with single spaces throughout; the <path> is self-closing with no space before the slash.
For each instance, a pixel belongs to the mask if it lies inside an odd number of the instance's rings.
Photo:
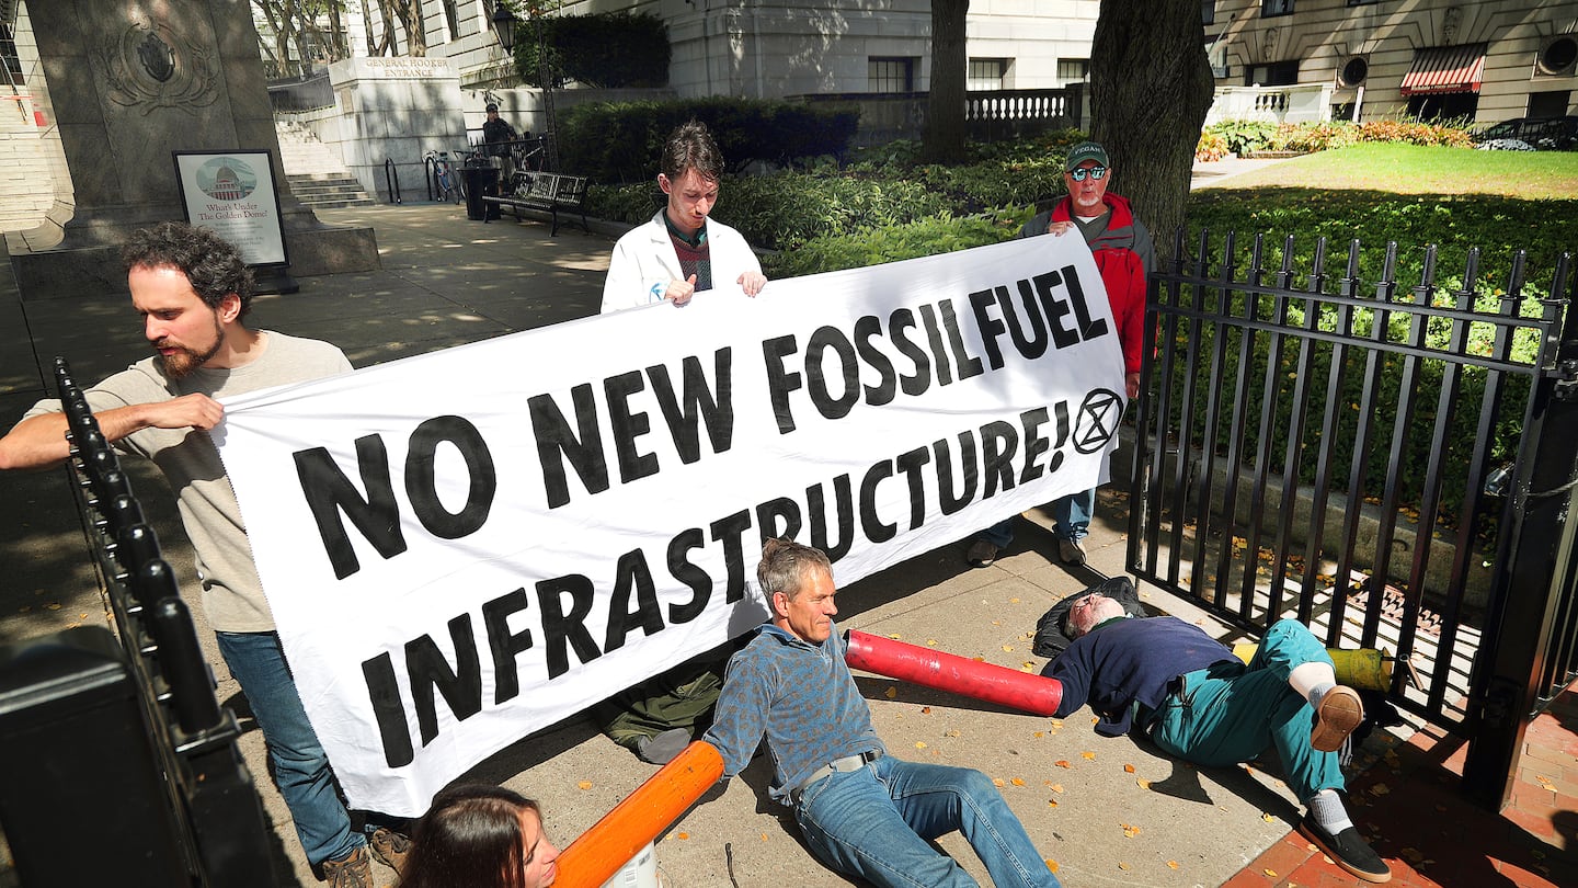
<path id="1" fill-rule="evenodd" d="M 950 690 L 1011 709 L 1051 716 L 1064 700 L 1064 683 L 1026 672 L 906 645 L 881 635 L 844 634 L 844 662 L 888 678 Z"/>

